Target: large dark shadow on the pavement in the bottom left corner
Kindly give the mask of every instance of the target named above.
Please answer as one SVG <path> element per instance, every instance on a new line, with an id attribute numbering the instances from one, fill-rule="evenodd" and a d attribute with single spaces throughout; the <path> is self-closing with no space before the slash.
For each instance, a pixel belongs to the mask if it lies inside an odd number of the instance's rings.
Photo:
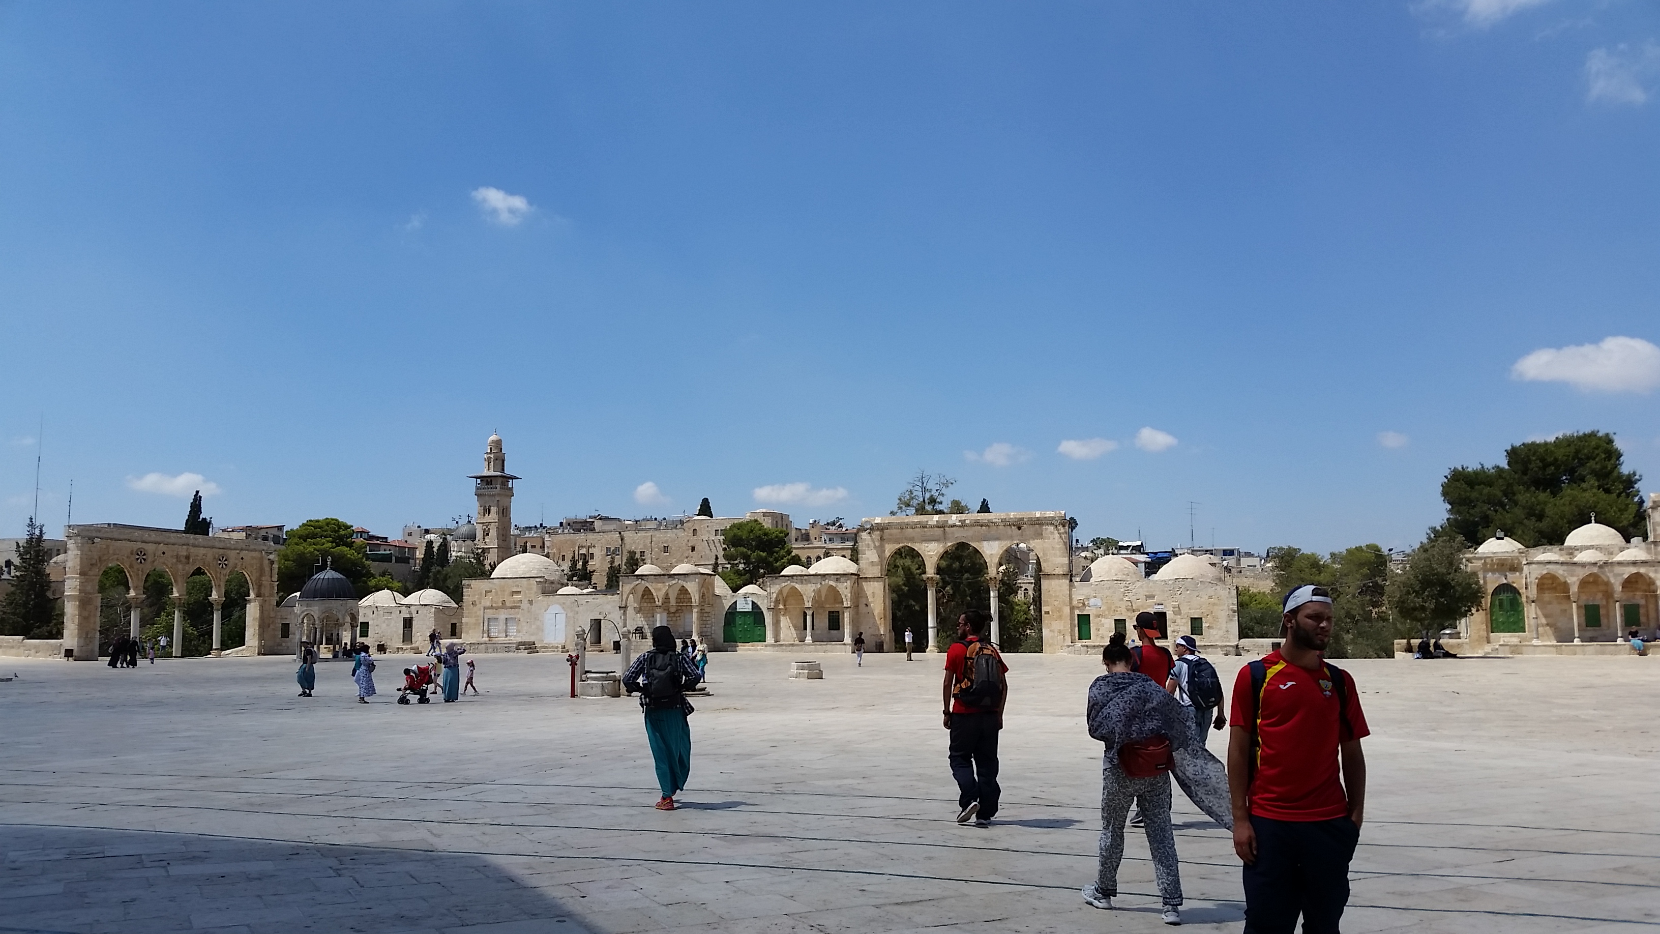
<path id="1" fill-rule="evenodd" d="M 20 824 L 0 838 L 0 931 L 588 931 L 475 854 Z"/>

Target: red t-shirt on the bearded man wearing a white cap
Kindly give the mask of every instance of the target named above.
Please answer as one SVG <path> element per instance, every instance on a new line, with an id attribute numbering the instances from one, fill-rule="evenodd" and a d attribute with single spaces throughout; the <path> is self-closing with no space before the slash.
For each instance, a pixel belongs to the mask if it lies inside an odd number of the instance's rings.
<path id="1" fill-rule="evenodd" d="M 1257 774 L 1250 813 L 1275 821 L 1330 821 L 1348 814 L 1338 778 L 1338 743 L 1371 735 L 1360 710 L 1355 678 L 1343 671 L 1348 705 L 1340 706 L 1325 663 L 1318 671 L 1291 665 L 1278 651 L 1262 660 L 1267 678 L 1257 706 Z M 1250 665 L 1233 680 L 1233 725 L 1252 725 Z M 1341 715 L 1340 715 L 1341 711 Z M 1343 720 L 1343 723 L 1338 723 Z"/>

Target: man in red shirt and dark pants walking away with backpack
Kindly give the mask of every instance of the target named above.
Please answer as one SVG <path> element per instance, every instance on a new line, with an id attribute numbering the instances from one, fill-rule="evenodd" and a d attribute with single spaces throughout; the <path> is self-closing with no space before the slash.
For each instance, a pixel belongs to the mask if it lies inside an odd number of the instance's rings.
<path id="1" fill-rule="evenodd" d="M 958 788 L 956 823 L 989 826 L 998 813 L 998 731 L 1009 700 L 1003 655 L 983 642 L 991 615 L 969 610 L 956 618 L 956 642 L 945 653 L 945 728 L 951 731 L 951 778 Z M 994 683 L 976 685 L 974 660 L 989 653 Z M 978 816 L 978 819 L 976 819 Z"/>

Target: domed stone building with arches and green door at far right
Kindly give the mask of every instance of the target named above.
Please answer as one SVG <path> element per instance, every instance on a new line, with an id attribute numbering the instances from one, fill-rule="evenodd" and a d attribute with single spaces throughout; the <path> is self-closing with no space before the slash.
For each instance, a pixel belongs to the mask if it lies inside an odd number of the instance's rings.
<path id="1" fill-rule="evenodd" d="M 1592 655 L 1623 651 L 1630 630 L 1657 635 L 1660 620 L 1660 494 L 1648 497 L 1648 540 L 1587 522 L 1560 545 L 1527 547 L 1502 532 L 1466 563 L 1482 580 L 1486 603 L 1469 618 L 1469 651 L 1489 655 Z"/>

